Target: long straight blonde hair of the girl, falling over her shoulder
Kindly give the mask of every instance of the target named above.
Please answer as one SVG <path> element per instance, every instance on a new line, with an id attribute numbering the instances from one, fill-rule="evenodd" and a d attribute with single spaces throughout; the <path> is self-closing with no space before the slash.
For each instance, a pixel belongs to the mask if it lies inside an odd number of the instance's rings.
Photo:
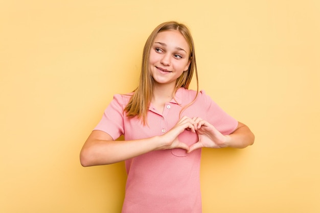
<path id="1" fill-rule="evenodd" d="M 151 76 L 151 72 L 149 70 L 149 57 L 150 57 L 150 51 L 154 42 L 154 39 L 156 35 L 159 32 L 163 31 L 169 31 L 169 30 L 177 30 L 179 31 L 186 39 L 187 43 L 189 44 L 190 48 L 190 65 L 186 72 L 184 72 L 177 80 L 176 80 L 176 86 L 174 89 L 175 92 L 180 88 L 184 87 L 186 89 L 189 88 L 193 73 L 196 74 L 196 81 L 197 81 L 197 91 L 198 89 L 198 72 L 197 72 L 197 65 L 196 65 L 196 57 L 195 57 L 195 51 L 194 51 L 194 43 L 191 36 L 191 33 L 187 26 L 185 26 L 182 23 L 178 23 L 176 21 L 169 21 L 164 22 L 161 25 L 157 26 L 150 36 L 148 37 L 144 50 L 142 55 L 142 67 L 141 67 L 141 74 L 140 74 L 140 80 L 139 80 L 139 86 L 134 90 L 134 93 L 132 97 L 129 100 L 128 105 L 124 109 L 127 113 L 127 116 L 129 118 L 137 116 L 138 119 L 142 119 L 143 124 L 146 124 L 147 120 L 147 113 L 149 109 L 149 105 L 151 103 L 152 95 L 153 95 L 153 78 Z M 198 92 L 197 92 L 198 94 Z M 197 97 L 197 96 L 196 96 Z M 196 99 L 181 109 L 181 112 L 190 106 Z"/>

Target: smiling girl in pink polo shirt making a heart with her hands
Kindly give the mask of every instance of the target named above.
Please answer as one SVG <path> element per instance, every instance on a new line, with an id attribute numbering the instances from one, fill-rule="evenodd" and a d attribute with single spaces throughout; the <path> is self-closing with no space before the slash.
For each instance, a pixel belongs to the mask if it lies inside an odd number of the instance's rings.
<path id="1" fill-rule="evenodd" d="M 122 213 L 200 213 L 201 148 L 254 143 L 247 126 L 204 91 L 188 89 L 194 72 L 197 78 L 188 28 L 162 23 L 145 44 L 138 88 L 113 97 L 83 145 L 84 167 L 125 160 Z"/>

